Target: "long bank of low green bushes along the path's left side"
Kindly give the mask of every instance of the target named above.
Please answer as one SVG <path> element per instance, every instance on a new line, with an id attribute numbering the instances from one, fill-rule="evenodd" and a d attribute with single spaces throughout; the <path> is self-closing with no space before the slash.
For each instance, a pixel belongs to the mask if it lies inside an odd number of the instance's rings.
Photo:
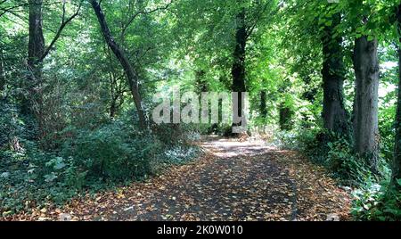
<path id="1" fill-rule="evenodd" d="M 199 152 L 186 144 L 190 140 L 184 136 L 190 132 L 186 128 L 176 132 L 160 127 L 153 135 L 145 135 L 133 125 L 116 120 L 99 128 L 66 128 L 53 137 L 59 146 L 52 152 L 23 137 L 22 151 L 4 147 L 0 151 L 0 213 L 8 215 L 47 202 L 60 204 L 83 190 L 142 180 L 155 173 L 158 164 L 164 168 L 183 164 Z"/>

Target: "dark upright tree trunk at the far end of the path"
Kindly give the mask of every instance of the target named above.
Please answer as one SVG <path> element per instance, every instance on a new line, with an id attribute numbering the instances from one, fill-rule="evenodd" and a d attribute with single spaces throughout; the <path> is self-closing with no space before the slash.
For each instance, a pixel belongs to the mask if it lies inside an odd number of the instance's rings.
<path id="1" fill-rule="evenodd" d="M 242 117 L 244 115 L 242 109 L 242 97 L 241 93 L 246 92 L 245 87 L 245 57 L 246 57 L 246 45 L 247 45 L 247 29 L 245 25 L 245 10 L 242 10 L 237 16 L 237 29 L 235 33 L 235 49 L 233 52 L 233 92 L 238 92 L 238 101 L 233 104 L 238 105 L 238 112 L 233 111 L 233 117 L 237 115 Z M 235 124 L 233 124 L 235 126 Z"/>

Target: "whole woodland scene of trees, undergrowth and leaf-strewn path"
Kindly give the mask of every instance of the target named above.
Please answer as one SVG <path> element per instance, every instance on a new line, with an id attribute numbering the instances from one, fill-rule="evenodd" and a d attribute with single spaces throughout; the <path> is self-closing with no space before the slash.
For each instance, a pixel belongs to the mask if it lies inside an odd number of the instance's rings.
<path id="1" fill-rule="evenodd" d="M 400 45 L 396 0 L 0 0 L 0 221 L 400 221 Z"/>

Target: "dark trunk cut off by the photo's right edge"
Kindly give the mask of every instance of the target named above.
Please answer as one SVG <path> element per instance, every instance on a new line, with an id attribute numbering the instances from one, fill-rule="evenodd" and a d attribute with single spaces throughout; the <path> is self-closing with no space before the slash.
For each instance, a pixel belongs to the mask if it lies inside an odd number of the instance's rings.
<path id="1" fill-rule="evenodd" d="M 397 30 L 401 33 L 401 4 L 397 8 Z M 399 38 L 399 44 L 401 45 L 401 37 Z M 397 180 L 401 179 L 401 48 L 398 46 L 398 101 L 397 101 L 397 115 L 396 115 L 396 146 L 394 150 L 393 159 L 393 175 L 391 185 L 397 186 L 401 189 L 401 185 L 397 183 Z"/>

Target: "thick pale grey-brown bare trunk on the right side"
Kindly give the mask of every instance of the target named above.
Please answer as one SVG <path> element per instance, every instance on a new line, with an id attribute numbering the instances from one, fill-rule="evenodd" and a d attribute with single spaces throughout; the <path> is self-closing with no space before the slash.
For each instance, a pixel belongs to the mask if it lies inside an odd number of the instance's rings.
<path id="1" fill-rule="evenodd" d="M 377 173 L 379 152 L 379 59 L 378 41 L 366 36 L 356 39 L 354 69 L 356 96 L 354 104 L 355 150 L 366 157 L 372 171 Z"/>

